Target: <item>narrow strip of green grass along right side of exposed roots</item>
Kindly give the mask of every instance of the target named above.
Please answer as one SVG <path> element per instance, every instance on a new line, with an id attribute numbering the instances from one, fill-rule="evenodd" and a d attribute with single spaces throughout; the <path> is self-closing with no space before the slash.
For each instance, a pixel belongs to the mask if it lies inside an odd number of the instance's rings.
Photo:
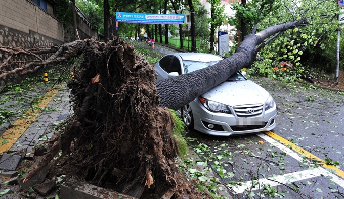
<path id="1" fill-rule="evenodd" d="M 170 109 L 170 112 L 175 123 L 173 137 L 177 143 L 178 155 L 179 157 L 184 158 L 188 155 L 188 145 L 183 136 L 183 133 L 185 132 L 185 124 L 174 110 Z"/>

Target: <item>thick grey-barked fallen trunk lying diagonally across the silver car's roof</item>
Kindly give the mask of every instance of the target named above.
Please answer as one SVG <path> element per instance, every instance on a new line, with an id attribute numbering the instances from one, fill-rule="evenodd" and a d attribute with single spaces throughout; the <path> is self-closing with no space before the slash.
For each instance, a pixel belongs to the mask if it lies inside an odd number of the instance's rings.
<path id="1" fill-rule="evenodd" d="M 236 71 L 249 68 L 255 61 L 256 52 L 264 45 L 258 48 L 255 46 L 264 39 L 303 22 L 304 20 L 300 20 L 271 26 L 257 34 L 254 34 L 255 29 L 253 29 L 231 57 L 204 69 L 158 81 L 156 87 L 160 96 L 160 106 L 177 110 L 193 101 L 196 97 L 224 82 Z"/>

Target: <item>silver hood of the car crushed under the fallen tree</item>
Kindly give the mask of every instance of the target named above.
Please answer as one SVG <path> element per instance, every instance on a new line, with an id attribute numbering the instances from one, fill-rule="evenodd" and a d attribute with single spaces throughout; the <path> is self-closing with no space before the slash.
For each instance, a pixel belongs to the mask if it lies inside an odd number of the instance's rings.
<path id="1" fill-rule="evenodd" d="M 264 104 L 269 93 L 256 83 L 247 81 L 223 82 L 202 95 L 208 100 L 229 105 Z"/>

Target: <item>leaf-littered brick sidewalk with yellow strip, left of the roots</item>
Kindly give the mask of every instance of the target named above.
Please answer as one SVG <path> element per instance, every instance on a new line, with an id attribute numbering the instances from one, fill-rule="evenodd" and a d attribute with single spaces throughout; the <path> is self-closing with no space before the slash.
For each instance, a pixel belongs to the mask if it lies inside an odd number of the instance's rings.
<path id="1" fill-rule="evenodd" d="M 18 155 L 27 160 L 33 159 L 34 146 L 49 140 L 54 134 L 54 126 L 73 112 L 65 85 L 53 88 L 38 85 L 32 90 L 16 88 L 5 92 L 0 96 L 0 110 L 13 116 L 13 119 L 1 122 L 0 153 Z M 8 161 L 10 159 L 1 159 L 0 171 L 9 170 L 6 168 Z M 13 170 L 13 166 L 10 169 Z"/>

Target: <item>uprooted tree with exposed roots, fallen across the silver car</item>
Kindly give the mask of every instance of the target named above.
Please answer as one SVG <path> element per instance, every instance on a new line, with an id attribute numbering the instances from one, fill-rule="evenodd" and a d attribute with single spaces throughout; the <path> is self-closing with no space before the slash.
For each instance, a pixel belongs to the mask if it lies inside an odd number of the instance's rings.
<path id="1" fill-rule="evenodd" d="M 157 83 L 153 67 L 135 53 L 133 45 L 119 38 L 107 43 L 87 39 L 25 50 L 0 46 L 8 54 L 0 68 L 10 64 L 13 56 L 35 58 L 13 71 L 3 72 L 0 78 L 33 73 L 46 65 L 82 56 L 75 80 L 69 83 L 74 114 L 63 131 L 50 141 L 52 146 L 45 158 L 24 180 L 61 151 L 64 158 L 57 159 L 60 165 L 52 164 L 53 167 L 62 167 L 63 172 L 73 173 L 77 179 L 99 186 L 106 182 L 139 183 L 145 186 L 143 198 L 160 198 L 171 187 L 178 198 L 201 198 L 191 182 L 183 180 L 184 174 L 171 171 L 168 164 L 178 155 L 178 148 L 173 137 L 174 122 L 167 108 L 178 109 L 234 72 L 249 67 L 256 60 L 256 53 L 280 32 L 304 23 L 305 20 L 292 21 L 258 33 L 254 28 L 231 57 Z M 38 55 L 42 53 L 54 55 L 41 60 Z M 114 169 L 120 174 L 110 175 Z"/>

